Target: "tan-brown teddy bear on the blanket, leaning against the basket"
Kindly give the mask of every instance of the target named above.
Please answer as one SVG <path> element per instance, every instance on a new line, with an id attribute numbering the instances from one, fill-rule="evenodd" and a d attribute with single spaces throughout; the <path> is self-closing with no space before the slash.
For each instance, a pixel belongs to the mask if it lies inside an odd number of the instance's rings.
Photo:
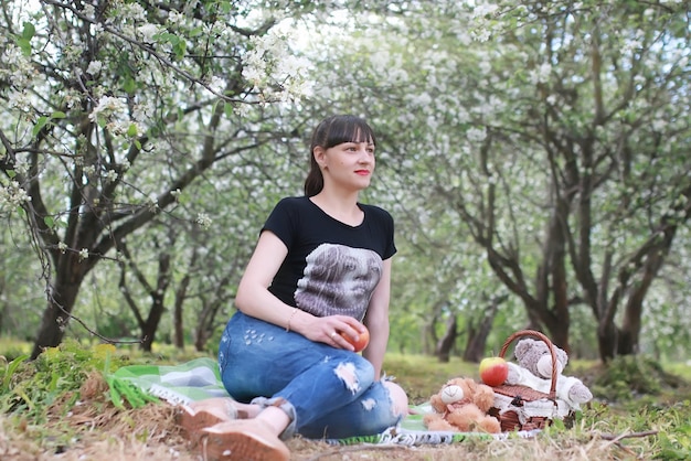
<path id="1" fill-rule="evenodd" d="M 423 422 L 429 430 L 490 433 L 501 431 L 499 420 L 487 414 L 495 403 L 495 392 L 486 384 L 476 383 L 471 378 L 451 378 L 429 400 L 434 412 L 423 417 Z"/>

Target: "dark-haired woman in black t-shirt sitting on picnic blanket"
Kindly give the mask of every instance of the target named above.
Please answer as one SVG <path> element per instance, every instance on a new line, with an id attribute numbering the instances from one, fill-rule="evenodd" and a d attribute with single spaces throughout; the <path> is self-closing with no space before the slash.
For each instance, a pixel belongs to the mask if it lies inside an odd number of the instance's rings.
<path id="1" fill-rule="evenodd" d="M 287 460 L 281 439 L 295 433 L 379 433 L 407 414 L 403 389 L 381 378 L 393 219 L 358 202 L 374 148 L 372 129 L 354 116 L 329 117 L 315 130 L 305 196 L 281 200 L 266 221 L 221 340 L 219 365 L 234 400 L 205 400 L 181 415 L 206 455 Z M 344 336 L 357 341 L 365 326 L 371 340 L 360 355 Z"/>

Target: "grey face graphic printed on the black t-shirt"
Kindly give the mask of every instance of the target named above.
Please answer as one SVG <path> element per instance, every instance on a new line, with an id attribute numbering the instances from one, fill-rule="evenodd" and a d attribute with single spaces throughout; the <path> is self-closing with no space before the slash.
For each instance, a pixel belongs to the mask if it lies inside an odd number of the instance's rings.
<path id="1" fill-rule="evenodd" d="M 382 276 L 382 259 L 370 249 L 321 244 L 307 256 L 295 301 L 318 317 L 364 318 L 372 291 Z"/>

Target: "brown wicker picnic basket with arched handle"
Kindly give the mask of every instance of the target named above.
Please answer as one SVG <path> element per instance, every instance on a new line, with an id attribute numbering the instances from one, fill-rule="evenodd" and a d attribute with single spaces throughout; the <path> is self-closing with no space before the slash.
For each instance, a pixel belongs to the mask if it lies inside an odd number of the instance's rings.
<path id="1" fill-rule="evenodd" d="M 523 336 L 534 336 L 542 340 L 552 355 L 552 363 L 556 363 L 556 353 L 552 341 L 539 331 L 521 330 L 510 335 L 504 342 L 499 356 L 503 357 L 511 343 Z M 552 367 L 550 393 L 541 393 L 527 386 L 502 384 L 493 386 L 495 405 L 489 414 L 501 425 L 501 431 L 543 429 L 554 419 L 573 418 L 572 408 L 556 398 L 557 367 Z"/>

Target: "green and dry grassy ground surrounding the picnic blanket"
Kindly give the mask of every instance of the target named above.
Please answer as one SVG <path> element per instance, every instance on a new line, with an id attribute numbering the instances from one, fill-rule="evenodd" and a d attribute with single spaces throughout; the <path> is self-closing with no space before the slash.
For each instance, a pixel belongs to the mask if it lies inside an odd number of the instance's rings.
<path id="1" fill-rule="evenodd" d="M 9 346 L 9 347 L 8 347 Z M 174 422 L 171 406 L 117 408 L 104 373 L 129 363 L 176 363 L 198 354 L 160 350 L 110 354 L 108 347 L 66 343 L 29 364 L 22 347 L 2 344 L 0 354 L 0 459 L 20 460 L 199 460 Z M 14 355 L 13 355 L 14 354 Z M 635 358 L 635 360 L 634 360 Z M 623 358 L 604 368 L 570 365 L 594 390 L 595 400 L 572 427 L 562 421 L 531 439 L 468 439 L 453 446 L 329 446 L 295 438 L 291 459 L 307 460 L 682 460 L 691 458 L 691 369 L 665 369 L 645 357 Z M 419 404 L 450 377 L 478 378 L 477 364 L 456 357 L 438 363 L 421 355 L 390 354 L 385 369 Z M 673 373 L 672 373 L 673 372 Z M 642 377 L 641 377 L 642 376 Z M 645 379 L 644 379 L 645 378 Z M 641 386 L 644 380 L 646 386 Z M 657 386 L 655 385 L 657 383 Z"/>

